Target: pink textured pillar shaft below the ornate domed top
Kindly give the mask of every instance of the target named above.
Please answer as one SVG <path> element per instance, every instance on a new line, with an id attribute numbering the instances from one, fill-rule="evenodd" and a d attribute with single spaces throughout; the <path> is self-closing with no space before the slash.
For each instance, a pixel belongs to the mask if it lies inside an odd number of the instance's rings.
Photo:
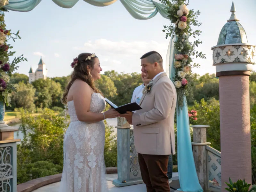
<path id="1" fill-rule="evenodd" d="M 228 182 L 229 177 L 233 182 L 245 179 L 252 183 L 250 71 L 240 74 L 219 74 L 222 192 L 226 192 L 224 182 Z"/>

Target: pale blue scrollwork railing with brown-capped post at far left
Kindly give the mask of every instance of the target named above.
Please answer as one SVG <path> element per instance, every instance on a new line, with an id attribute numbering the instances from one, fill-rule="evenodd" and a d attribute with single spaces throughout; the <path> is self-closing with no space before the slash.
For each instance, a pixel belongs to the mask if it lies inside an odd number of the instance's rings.
<path id="1" fill-rule="evenodd" d="M 0 191 L 17 191 L 17 146 L 14 139 L 17 128 L 0 122 Z"/>

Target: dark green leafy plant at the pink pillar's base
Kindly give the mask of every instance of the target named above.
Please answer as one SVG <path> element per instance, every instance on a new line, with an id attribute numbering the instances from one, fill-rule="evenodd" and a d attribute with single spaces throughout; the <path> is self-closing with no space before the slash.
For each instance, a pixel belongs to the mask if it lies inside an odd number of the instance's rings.
<path id="1" fill-rule="evenodd" d="M 225 182 L 228 185 L 228 188 L 225 188 L 229 192 L 255 192 L 256 186 L 252 186 L 252 188 L 249 190 L 249 187 L 251 184 L 247 184 L 245 180 L 238 180 L 237 182 L 232 182 L 232 180 L 229 178 L 229 183 Z"/>

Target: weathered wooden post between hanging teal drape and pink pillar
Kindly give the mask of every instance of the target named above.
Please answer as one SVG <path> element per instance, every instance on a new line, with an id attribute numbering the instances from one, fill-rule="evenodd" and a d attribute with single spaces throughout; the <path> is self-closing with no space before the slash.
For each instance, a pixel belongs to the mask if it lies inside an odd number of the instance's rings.
<path id="1" fill-rule="evenodd" d="M 199 183 L 203 190 L 207 192 L 207 161 L 206 161 L 206 149 L 205 146 L 211 143 L 206 141 L 206 128 L 208 125 L 194 125 L 193 128 L 193 156 L 196 165 L 196 173 Z"/>

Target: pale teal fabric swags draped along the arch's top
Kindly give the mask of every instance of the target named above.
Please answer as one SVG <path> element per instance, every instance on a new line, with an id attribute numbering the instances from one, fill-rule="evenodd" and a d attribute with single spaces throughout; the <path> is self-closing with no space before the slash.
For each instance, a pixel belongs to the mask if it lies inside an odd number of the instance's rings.
<path id="1" fill-rule="evenodd" d="M 28 12 L 34 9 L 42 0 L 9 0 L 9 4 L 4 8 L 12 11 Z M 49 1 L 49 0 L 47 0 Z M 78 0 L 52 0 L 55 4 L 63 8 L 73 7 Z M 84 0 L 85 2 L 104 7 L 115 3 L 117 0 Z M 139 20 L 151 19 L 159 12 L 164 18 L 168 19 L 168 13 L 165 10 L 166 5 L 157 3 L 153 0 L 120 0 L 125 9 Z M 148 15 L 148 16 L 144 16 Z"/>

